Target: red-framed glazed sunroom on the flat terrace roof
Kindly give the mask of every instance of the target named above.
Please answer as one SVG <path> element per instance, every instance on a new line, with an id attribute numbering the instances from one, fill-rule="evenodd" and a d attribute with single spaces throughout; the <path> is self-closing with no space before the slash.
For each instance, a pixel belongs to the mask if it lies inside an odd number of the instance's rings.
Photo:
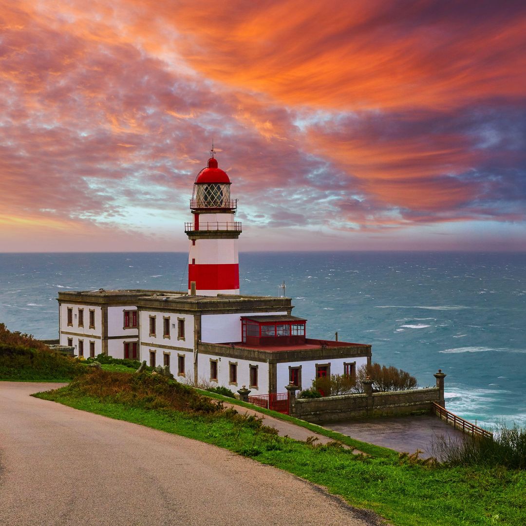
<path id="1" fill-rule="evenodd" d="M 298 345 L 305 343 L 307 320 L 296 316 L 241 316 L 241 339 L 248 345 Z"/>

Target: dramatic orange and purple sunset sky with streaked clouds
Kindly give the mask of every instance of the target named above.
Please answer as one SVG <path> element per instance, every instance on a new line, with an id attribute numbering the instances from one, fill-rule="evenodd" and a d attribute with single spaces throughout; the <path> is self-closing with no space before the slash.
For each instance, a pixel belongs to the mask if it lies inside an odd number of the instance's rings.
<path id="1" fill-rule="evenodd" d="M 526 3 L 4 0 L 0 252 L 526 250 Z"/>

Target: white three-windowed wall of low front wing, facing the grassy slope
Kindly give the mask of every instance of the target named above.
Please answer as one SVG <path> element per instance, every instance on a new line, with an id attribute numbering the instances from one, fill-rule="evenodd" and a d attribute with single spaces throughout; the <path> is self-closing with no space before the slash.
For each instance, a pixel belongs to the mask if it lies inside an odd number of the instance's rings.
<path id="1" fill-rule="evenodd" d="M 210 382 L 210 359 L 217 360 L 217 382 Z M 237 362 L 237 386 L 230 385 L 229 362 Z M 205 381 L 213 385 L 224 386 L 236 392 L 242 386 L 249 388 L 249 366 L 258 366 L 258 387 L 250 387 L 250 395 L 266 395 L 268 393 L 268 363 L 260 361 L 240 360 L 225 356 L 199 354 L 197 356 L 198 381 Z M 287 382 L 288 383 L 288 382 Z"/>

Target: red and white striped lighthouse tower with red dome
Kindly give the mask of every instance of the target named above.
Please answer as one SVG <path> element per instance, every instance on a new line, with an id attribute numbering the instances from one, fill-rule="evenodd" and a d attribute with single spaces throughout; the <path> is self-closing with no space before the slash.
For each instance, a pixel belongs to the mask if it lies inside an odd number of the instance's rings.
<path id="1" fill-rule="evenodd" d="M 217 159 L 196 177 L 190 209 L 193 223 L 185 223 L 190 240 L 188 294 L 239 294 L 237 240 L 241 223 L 234 220 L 237 199 L 230 199 L 230 179 L 217 167 Z"/>

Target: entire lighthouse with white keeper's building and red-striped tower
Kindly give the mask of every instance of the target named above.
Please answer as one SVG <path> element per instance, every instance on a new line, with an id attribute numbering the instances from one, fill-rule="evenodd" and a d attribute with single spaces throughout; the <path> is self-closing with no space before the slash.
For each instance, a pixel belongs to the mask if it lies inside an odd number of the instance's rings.
<path id="1" fill-rule="evenodd" d="M 188 290 L 59 292 L 62 345 L 78 356 L 168 366 L 193 385 L 255 395 L 311 386 L 317 377 L 354 375 L 371 360 L 371 346 L 307 338 L 307 320 L 291 315 L 290 298 L 239 294 L 237 201 L 212 156 L 195 179 L 190 201 Z"/>

